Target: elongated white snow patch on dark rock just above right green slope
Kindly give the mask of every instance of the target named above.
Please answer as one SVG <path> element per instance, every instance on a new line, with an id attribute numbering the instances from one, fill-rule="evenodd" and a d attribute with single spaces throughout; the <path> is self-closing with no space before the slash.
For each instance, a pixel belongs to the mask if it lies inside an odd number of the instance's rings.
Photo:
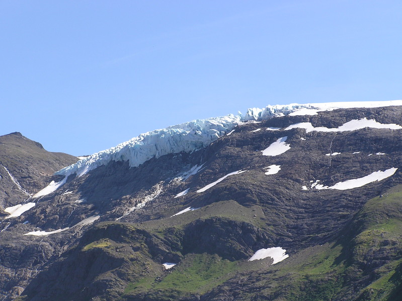
<path id="1" fill-rule="evenodd" d="M 390 168 L 385 171 L 377 171 L 369 174 L 368 176 L 358 178 L 358 179 L 351 179 L 344 182 L 338 182 L 334 186 L 324 186 L 322 184 L 314 185 L 315 189 L 337 189 L 337 190 L 347 190 L 357 187 L 362 187 L 372 182 L 384 180 L 390 176 L 392 176 L 396 172 L 397 168 Z M 311 188 L 314 187 L 311 185 Z"/>

